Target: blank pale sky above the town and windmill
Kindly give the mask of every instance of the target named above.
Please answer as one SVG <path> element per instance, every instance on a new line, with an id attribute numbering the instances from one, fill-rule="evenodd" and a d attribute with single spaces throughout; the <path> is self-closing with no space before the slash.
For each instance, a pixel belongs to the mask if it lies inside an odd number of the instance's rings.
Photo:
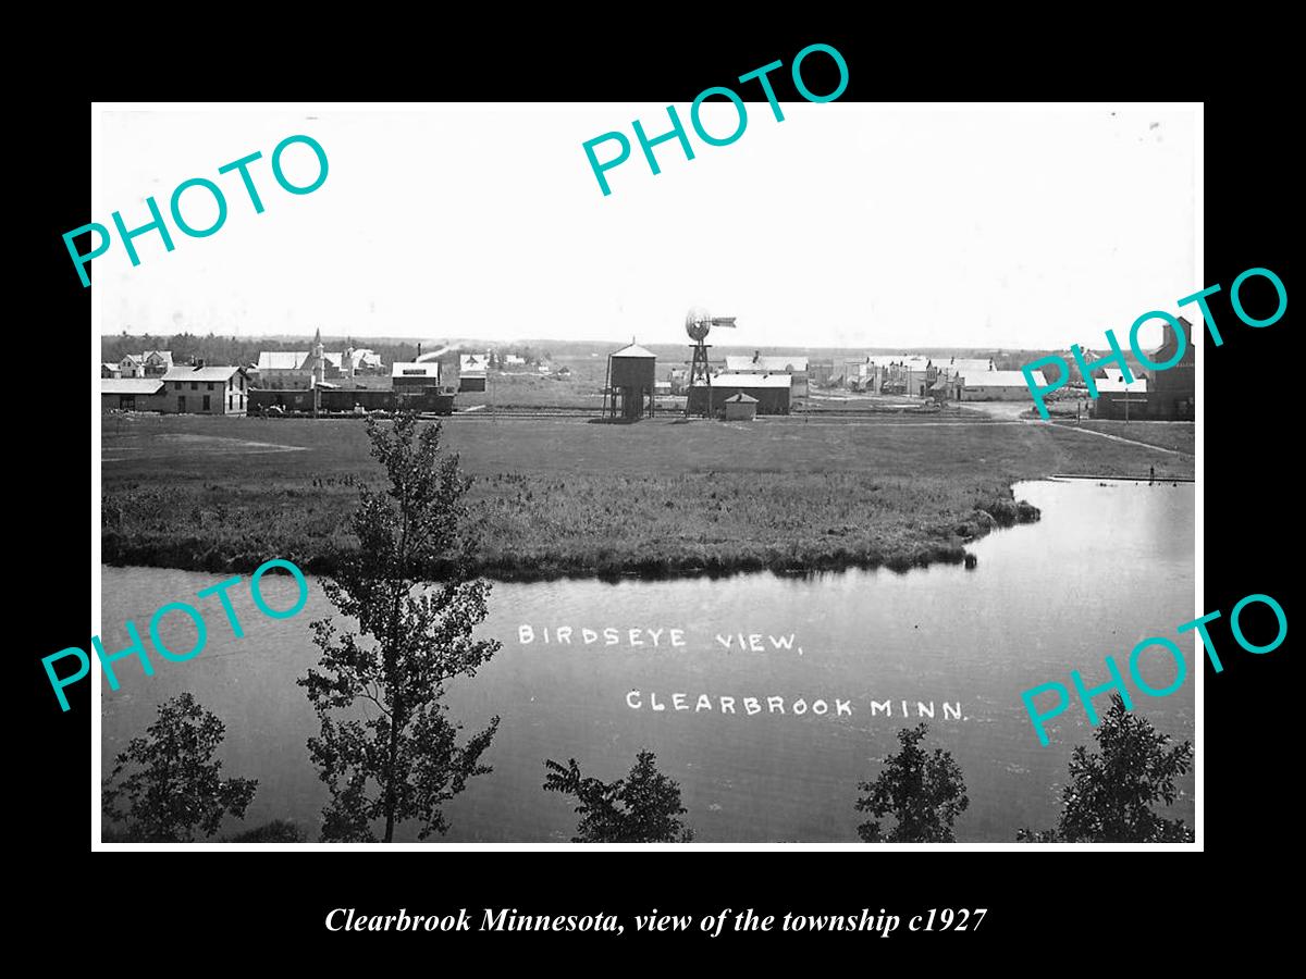
<path id="1" fill-rule="evenodd" d="M 781 107 L 747 103 L 717 148 L 677 103 L 695 159 L 661 144 L 658 176 L 631 120 L 666 132 L 665 103 L 106 111 L 90 219 L 137 227 L 154 194 L 176 248 L 149 232 L 132 268 L 115 236 L 93 262 L 101 332 L 679 343 L 704 305 L 738 317 L 724 343 L 1064 349 L 1106 328 L 1127 345 L 1135 317 L 1209 285 L 1192 110 Z M 726 102 L 703 120 L 737 125 Z M 605 197 L 581 144 L 613 129 L 632 154 Z M 294 196 L 270 157 L 299 133 L 330 170 Z M 217 172 L 255 150 L 263 214 Z M 316 175 L 306 146 L 283 159 Z M 195 176 L 227 200 L 209 238 L 168 214 Z M 183 215 L 204 227 L 215 205 L 187 191 Z"/>

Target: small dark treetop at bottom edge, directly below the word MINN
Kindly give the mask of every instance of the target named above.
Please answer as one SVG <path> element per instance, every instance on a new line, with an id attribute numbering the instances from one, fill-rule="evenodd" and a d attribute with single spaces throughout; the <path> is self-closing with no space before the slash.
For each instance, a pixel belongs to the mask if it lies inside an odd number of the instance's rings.
<path id="1" fill-rule="evenodd" d="M 891 754 L 874 782 L 861 782 L 867 795 L 857 800 L 858 812 L 874 820 L 857 828 L 867 843 L 955 843 L 952 824 L 970 804 L 961 768 L 949 752 L 935 748 L 927 754 L 919 748 L 929 724 L 905 727 L 897 738 L 902 749 Z M 879 820 L 893 815 L 897 825 L 885 837 Z"/>

